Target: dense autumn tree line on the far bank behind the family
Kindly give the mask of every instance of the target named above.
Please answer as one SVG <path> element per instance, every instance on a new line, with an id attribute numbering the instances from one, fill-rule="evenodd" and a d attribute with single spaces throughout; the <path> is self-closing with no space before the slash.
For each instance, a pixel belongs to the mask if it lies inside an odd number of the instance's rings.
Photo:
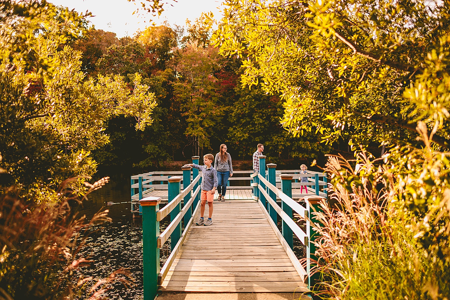
<path id="1" fill-rule="evenodd" d="M 280 125 L 284 108 L 277 94 L 249 90 L 240 82 L 238 58 L 225 58 L 210 45 L 206 18 L 186 27 L 148 27 L 134 37 L 87 30 L 69 45 L 82 52 L 82 69 L 92 76 L 134 74 L 155 93 L 153 125 L 133 130 L 134 120 L 115 116 L 106 133 L 111 143 L 94 152 L 101 166 L 161 168 L 166 160 L 186 160 L 216 152 L 227 143 L 235 159 L 250 159 L 257 143 L 272 161 L 307 161 L 330 147 L 315 133 L 293 137 Z"/>

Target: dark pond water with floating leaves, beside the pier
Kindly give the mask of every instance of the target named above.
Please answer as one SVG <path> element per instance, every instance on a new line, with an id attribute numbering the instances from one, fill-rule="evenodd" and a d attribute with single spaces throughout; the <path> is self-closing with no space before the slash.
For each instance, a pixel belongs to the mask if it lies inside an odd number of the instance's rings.
<path id="1" fill-rule="evenodd" d="M 241 183 L 241 180 L 236 180 L 233 185 L 240 184 L 248 182 Z M 90 228 L 89 244 L 81 255 L 94 260 L 94 263 L 81 268 L 82 274 L 104 278 L 117 269 L 127 268 L 134 278 L 135 285 L 126 288 L 122 284 L 116 284 L 105 296 L 112 300 L 143 299 L 142 219 L 133 219 L 130 212 L 130 176 L 115 175 L 107 185 L 88 197 L 89 200 L 84 202 L 80 213 L 90 219 L 96 212 L 108 209 L 108 216 L 112 218 L 112 222 Z M 110 201 L 114 204 L 107 206 L 106 203 Z M 160 222 L 161 230 L 167 227 L 168 222 L 167 218 Z M 278 227 L 281 229 L 281 220 L 278 221 Z M 304 226 L 302 229 L 305 230 Z M 160 252 L 161 266 L 170 255 L 170 249 L 169 238 Z M 306 254 L 305 247 L 295 236 L 294 252 L 298 258 Z"/>

